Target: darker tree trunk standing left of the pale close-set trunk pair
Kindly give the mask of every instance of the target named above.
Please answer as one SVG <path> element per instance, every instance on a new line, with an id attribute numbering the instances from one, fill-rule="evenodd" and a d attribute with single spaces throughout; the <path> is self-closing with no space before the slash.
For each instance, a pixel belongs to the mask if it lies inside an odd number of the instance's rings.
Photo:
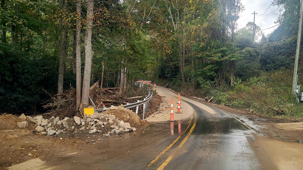
<path id="1" fill-rule="evenodd" d="M 63 4 L 62 4 L 63 11 L 66 8 L 67 8 L 67 2 L 63 0 Z M 63 93 L 64 60 L 66 57 L 65 50 L 66 50 L 66 23 L 65 23 L 65 17 L 62 15 L 57 94 Z M 57 96 L 57 99 L 59 98 L 60 96 Z"/>

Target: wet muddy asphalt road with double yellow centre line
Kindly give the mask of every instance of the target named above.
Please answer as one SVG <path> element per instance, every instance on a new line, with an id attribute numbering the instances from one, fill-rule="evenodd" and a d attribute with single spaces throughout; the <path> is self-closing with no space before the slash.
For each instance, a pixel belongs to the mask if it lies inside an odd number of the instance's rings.
<path id="1" fill-rule="evenodd" d="M 157 90 L 177 97 L 163 87 Z M 254 140 L 252 130 L 222 110 L 197 100 L 182 100 L 195 110 L 191 119 L 111 136 L 91 150 L 58 156 L 49 163 L 58 167 L 61 159 L 62 169 L 262 169 L 248 143 Z"/>

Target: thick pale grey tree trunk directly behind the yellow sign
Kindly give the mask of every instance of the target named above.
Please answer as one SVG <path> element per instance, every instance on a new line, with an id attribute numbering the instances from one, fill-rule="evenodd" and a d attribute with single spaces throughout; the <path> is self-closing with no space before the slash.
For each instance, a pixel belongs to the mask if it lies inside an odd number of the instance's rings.
<path id="1" fill-rule="evenodd" d="M 94 0 L 87 1 L 86 31 L 84 37 L 85 64 L 82 85 L 82 103 L 88 103 L 89 87 L 92 70 L 92 27 Z"/>

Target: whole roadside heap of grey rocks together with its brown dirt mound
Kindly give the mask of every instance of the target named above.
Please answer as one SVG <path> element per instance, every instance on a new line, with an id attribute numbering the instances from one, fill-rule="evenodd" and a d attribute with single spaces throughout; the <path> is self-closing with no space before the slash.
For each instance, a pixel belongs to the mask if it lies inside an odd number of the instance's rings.
<path id="1" fill-rule="evenodd" d="M 43 116 L 25 116 L 22 114 L 16 123 L 18 128 L 28 128 L 39 135 L 58 136 L 61 134 L 94 134 L 101 133 L 103 136 L 120 135 L 136 131 L 135 127 L 148 125 L 141 120 L 138 115 L 131 110 L 125 109 L 123 105 L 111 107 L 104 113 L 95 112 L 94 114 L 80 118 L 52 116 L 50 119 L 44 119 Z"/>

